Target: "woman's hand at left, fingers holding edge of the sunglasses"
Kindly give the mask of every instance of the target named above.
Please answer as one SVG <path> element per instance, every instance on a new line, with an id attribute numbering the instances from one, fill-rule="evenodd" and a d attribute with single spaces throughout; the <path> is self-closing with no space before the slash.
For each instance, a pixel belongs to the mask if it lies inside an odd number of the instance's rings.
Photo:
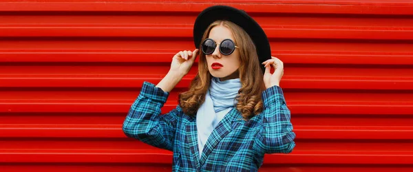
<path id="1" fill-rule="evenodd" d="M 193 65 L 196 56 L 198 55 L 198 49 L 191 51 L 180 51 L 172 58 L 171 69 L 169 72 L 179 74 L 182 77 L 188 74 L 189 69 Z"/>

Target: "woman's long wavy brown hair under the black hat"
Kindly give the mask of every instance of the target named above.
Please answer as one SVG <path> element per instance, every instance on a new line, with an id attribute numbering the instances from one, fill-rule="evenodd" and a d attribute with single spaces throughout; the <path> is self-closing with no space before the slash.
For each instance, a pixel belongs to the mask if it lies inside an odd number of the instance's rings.
<path id="1" fill-rule="evenodd" d="M 257 51 L 250 36 L 240 26 L 231 21 L 215 21 L 211 23 L 202 36 L 202 41 L 207 39 L 211 29 L 217 25 L 223 25 L 231 30 L 235 45 L 240 47 L 241 64 L 238 68 L 242 87 L 237 95 L 237 110 L 242 117 L 247 120 L 260 114 L 263 109 L 261 94 L 265 89 L 260 61 L 258 61 Z M 201 43 L 202 43 L 201 41 Z M 184 114 L 195 116 L 198 108 L 205 100 L 205 94 L 209 89 L 211 74 L 208 70 L 208 64 L 205 54 L 200 52 L 198 63 L 198 73 L 191 82 L 187 92 L 179 94 L 179 105 Z"/>

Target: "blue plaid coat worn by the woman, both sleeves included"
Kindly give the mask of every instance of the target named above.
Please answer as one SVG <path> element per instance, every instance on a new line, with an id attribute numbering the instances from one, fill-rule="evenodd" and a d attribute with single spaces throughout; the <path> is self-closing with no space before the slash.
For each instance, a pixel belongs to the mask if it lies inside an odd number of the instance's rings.
<path id="1" fill-rule="evenodd" d="M 257 171 L 264 153 L 290 153 L 295 133 L 282 89 L 262 93 L 264 111 L 242 120 L 237 109 L 229 111 L 213 130 L 202 155 L 198 151 L 196 119 L 179 105 L 160 115 L 169 93 L 145 82 L 123 123 L 126 136 L 154 147 L 173 151 L 173 171 Z"/>

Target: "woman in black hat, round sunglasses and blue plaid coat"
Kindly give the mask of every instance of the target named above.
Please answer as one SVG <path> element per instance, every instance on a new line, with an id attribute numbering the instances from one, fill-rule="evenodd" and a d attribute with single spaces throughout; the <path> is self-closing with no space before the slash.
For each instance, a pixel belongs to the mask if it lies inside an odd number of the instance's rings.
<path id="1" fill-rule="evenodd" d="M 143 84 L 125 134 L 173 151 L 173 171 L 257 171 L 264 153 L 290 153 L 295 133 L 279 87 L 284 67 L 271 57 L 260 25 L 242 10 L 213 6 L 200 13 L 193 33 L 200 50 L 178 52 L 158 85 Z M 198 51 L 189 90 L 160 116 Z"/>

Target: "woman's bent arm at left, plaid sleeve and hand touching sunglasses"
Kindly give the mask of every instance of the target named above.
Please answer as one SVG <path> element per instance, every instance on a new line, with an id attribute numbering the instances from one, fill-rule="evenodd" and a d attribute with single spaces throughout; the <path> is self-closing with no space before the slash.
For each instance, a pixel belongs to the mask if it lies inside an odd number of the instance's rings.
<path id="1" fill-rule="evenodd" d="M 172 151 L 176 127 L 182 116 L 179 106 L 168 114 L 160 115 L 169 92 L 189 72 L 198 50 L 178 52 L 172 58 L 171 69 L 158 85 L 145 82 L 138 98 L 123 122 L 123 132 L 154 147 Z"/>

